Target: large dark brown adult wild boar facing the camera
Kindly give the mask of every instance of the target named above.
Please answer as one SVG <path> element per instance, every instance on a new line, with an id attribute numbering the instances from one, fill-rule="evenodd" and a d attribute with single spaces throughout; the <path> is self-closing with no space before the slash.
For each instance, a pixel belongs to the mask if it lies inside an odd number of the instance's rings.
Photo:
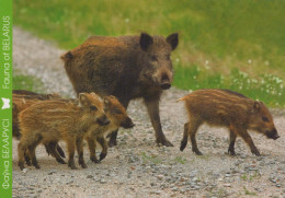
<path id="1" fill-rule="evenodd" d="M 127 108 L 130 100 L 144 98 L 157 143 L 171 147 L 160 123 L 159 101 L 173 79 L 171 51 L 179 43 L 176 33 L 150 36 L 91 36 L 77 48 L 61 56 L 66 72 L 77 94 L 95 92 L 114 95 Z M 117 131 L 110 145 L 116 144 Z"/>

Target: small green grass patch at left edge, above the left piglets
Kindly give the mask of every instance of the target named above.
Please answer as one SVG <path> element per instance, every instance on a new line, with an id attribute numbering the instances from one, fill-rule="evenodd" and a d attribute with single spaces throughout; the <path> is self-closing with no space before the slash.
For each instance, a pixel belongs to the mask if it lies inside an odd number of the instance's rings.
<path id="1" fill-rule="evenodd" d="M 31 75 L 13 75 L 13 90 L 29 90 L 34 92 L 41 92 L 44 88 L 43 82 Z"/>

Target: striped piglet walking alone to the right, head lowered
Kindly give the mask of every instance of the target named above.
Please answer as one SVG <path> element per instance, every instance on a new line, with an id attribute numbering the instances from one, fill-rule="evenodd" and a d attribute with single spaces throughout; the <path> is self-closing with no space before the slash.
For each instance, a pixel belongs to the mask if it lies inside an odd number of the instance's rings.
<path id="1" fill-rule="evenodd" d="M 229 128 L 230 144 L 228 152 L 231 155 L 236 154 L 237 136 L 240 136 L 247 142 L 252 153 L 260 155 L 248 133 L 248 129 L 255 130 L 274 140 L 280 137 L 266 106 L 262 102 L 253 101 L 240 93 L 230 90 L 198 90 L 179 101 L 185 102 L 189 114 L 189 121 L 184 125 L 181 151 L 185 149 L 190 137 L 192 151 L 202 154 L 197 149 L 195 136 L 198 127 L 204 123 Z"/>

